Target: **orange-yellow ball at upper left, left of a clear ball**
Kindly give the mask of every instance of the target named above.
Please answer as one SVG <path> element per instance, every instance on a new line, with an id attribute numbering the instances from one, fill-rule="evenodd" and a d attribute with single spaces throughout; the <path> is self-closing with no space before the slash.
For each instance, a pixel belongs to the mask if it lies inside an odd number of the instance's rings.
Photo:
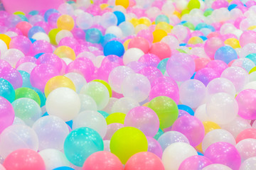
<path id="1" fill-rule="evenodd" d="M 57 27 L 61 30 L 72 30 L 75 26 L 75 21 L 69 15 L 62 15 L 57 20 Z"/>

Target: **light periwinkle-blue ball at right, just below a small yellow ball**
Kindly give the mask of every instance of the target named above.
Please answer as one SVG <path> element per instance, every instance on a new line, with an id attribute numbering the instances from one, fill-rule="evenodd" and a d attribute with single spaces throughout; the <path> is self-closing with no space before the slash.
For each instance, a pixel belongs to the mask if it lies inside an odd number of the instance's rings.
<path id="1" fill-rule="evenodd" d="M 214 55 L 214 60 L 222 60 L 226 64 L 230 63 L 232 60 L 238 59 L 237 52 L 230 46 L 220 47 Z"/>

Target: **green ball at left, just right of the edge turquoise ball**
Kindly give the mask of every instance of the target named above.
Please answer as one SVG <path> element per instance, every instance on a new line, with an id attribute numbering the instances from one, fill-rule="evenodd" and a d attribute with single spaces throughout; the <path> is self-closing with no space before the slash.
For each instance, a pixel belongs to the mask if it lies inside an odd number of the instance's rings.
<path id="1" fill-rule="evenodd" d="M 41 106 L 40 97 L 38 96 L 36 91 L 28 87 L 21 87 L 15 90 L 15 100 L 18 98 L 31 98 L 36 101 L 39 106 Z"/>

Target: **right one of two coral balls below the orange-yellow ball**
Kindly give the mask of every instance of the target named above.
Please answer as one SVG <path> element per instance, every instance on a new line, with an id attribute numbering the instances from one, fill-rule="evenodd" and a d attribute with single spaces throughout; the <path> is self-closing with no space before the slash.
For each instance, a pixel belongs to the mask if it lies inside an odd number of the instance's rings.
<path id="1" fill-rule="evenodd" d="M 152 44 L 149 53 L 157 55 L 160 60 L 171 57 L 171 48 L 165 42 L 156 42 Z"/>

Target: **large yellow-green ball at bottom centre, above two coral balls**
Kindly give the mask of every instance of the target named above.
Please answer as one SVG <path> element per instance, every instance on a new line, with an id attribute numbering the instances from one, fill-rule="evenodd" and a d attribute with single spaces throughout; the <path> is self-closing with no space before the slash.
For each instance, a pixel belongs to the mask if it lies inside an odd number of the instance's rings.
<path id="1" fill-rule="evenodd" d="M 110 152 L 115 154 L 122 164 L 126 164 L 132 155 L 146 152 L 148 142 L 144 133 L 134 127 L 124 127 L 114 132 L 110 140 Z"/>

